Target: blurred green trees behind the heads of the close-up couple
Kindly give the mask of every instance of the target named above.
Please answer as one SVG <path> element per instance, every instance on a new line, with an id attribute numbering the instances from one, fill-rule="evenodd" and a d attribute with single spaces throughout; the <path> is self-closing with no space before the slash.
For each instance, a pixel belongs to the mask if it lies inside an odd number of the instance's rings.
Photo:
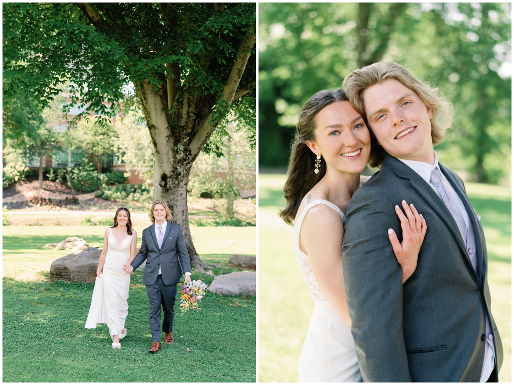
<path id="1" fill-rule="evenodd" d="M 302 104 L 353 69 L 393 61 L 454 104 L 436 146 L 469 179 L 510 185 L 510 3 L 261 3 L 259 164 L 285 168 Z"/>

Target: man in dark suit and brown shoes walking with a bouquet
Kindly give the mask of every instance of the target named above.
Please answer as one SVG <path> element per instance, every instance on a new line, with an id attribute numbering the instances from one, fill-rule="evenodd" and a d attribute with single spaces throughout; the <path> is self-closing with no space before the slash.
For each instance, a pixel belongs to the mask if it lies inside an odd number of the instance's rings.
<path id="1" fill-rule="evenodd" d="M 162 331 L 166 333 L 165 343 L 173 342 L 173 316 L 177 283 L 182 274 L 186 282 L 191 282 L 191 264 L 182 228 L 170 221 L 171 211 L 166 202 L 156 200 L 150 210 L 152 226 L 143 230 L 141 248 L 128 270 L 135 270 L 146 260 L 143 284 L 150 303 L 150 330 L 152 347 L 150 353 L 157 353 L 161 348 L 160 315 L 164 312 Z"/>

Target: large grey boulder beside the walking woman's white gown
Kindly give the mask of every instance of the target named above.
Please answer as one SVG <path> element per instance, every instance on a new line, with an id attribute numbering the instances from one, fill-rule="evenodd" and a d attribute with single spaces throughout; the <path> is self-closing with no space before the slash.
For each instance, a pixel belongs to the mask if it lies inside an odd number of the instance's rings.
<path id="1" fill-rule="evenodd" d="M 78 254 L 71 253 L 53 261 L 50 265 L 50 282 L 95 282 L 101 252 L 88 247 Z"/>

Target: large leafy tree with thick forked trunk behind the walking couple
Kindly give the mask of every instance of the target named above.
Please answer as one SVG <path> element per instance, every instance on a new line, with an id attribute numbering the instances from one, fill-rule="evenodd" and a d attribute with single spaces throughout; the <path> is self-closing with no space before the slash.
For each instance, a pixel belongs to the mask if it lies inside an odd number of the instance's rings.
<path id="1" fill-rule="evenodd" d="M 24 90 L 45 106 L 69 81 L 77 119 L 94 112 L 99 122 L 137 101 L 154 147 L 154 198 L 205 267 L 189 231 L 188 179 L 228 114 L 255 111 L 255 3 L 10 3 L 3 23 L 4 95 Z"/>

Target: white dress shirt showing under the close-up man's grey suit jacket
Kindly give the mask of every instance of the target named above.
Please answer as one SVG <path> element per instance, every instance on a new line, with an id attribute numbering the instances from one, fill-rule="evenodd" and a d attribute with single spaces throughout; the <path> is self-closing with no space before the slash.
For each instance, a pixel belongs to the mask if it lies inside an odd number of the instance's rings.
<path id="1" fill-rule="evenodd" d="M 407 159 L 400 159 L 398 160 L 402 161 L 403 163 L 407 164 L 412 170 L 416 172 L 423 180 L 425 180 L 429 186 L 436 192 L 437 195 L 439 195 L 439 192 L 437 191 L 437 188 L 434 184 L 430 182 L 430 176 L 432 175 L 432 171 L 438 167 L 437 162 L 437 154 L 434 151 L 434 163 L 429 164 L 426 162 L 420 162 L 417 160 L 407 160 Z M 464 207 L 464 204 L 462 203 L 462 199 L 458 196 L 456 191 L 453 189 L 452 185 L 446 179 L 446 176 L 443 174 L 443 171 L 440 170 L 440 175 L 443 180 L 443 184 L 445 185 L 445 189 L 449 191 L 452 195 L 455 201 L 457 202 L 458 208 L 461 210 L 461 213 L 465 219 L 467 229 L 466 233 L 471 226 L 471 222 L 469 219 L 468 212 L 466 211 L 466 208 Z M 439 195 L 440 197 L 440 195 Z M 428 224 L 430 225 L 430 224 Z M 466 241 L 464 242 L 466 243 Z M 477 272 L 477 266 L 476 266 L 476 260 L 474 261 L 473 268 L 475 272 Z M 485 355 L 484 355 L 484 363 L 482 365 L 482 376 L 480 377 L 480 382 L 486 382 L 489 379 L 489 376 L 491 375 L 493 369 L 494 369 L 494 343 L 492 339 L 492 332 L 491 332 L 491 326 L 489 321 L 489 316 L 486 314 L 486 344 L 485 344 Z"/>

